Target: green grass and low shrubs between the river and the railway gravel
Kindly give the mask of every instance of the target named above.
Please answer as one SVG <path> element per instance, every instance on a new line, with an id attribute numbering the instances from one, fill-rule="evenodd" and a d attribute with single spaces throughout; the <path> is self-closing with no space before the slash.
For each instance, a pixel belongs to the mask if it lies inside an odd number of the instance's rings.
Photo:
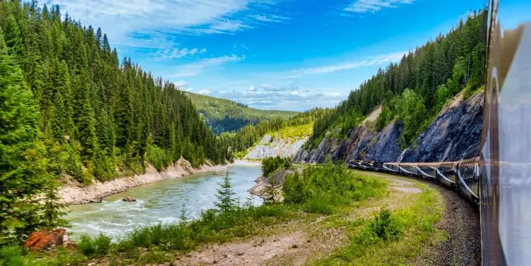
<path id="1" fill-rule="evenodd" d="M 402 265 L 419 255 L 424 246 L 446 239 L 444 231 L 434 226 L 441 219 L 442 207 L 437 205 L 441 195 L 422 183 L 414 183 L 422 193 L 393 198 L 391 211 L 383 207 L 393 195 L 387 179 L 330 162 L 304 167 L 296 182 L 294 176 L 285 184 L 288 202 L 284 204 L 247 204 L 229 212 L 208 210 L 189 222 L 136 229 L 117 243 L 103 235 L 85 236 L 76 250 L 28 253 L 4 247 L 0 265 L 145 265 L 173 261 L 201 246 L 237 238 L 282 230 L 328 237 L 329 229 L 340 230 L 342 240 L 331 253 L 317 253 L 309 265 Z M 367 208 L 380 211 L 364 216 Z"/>

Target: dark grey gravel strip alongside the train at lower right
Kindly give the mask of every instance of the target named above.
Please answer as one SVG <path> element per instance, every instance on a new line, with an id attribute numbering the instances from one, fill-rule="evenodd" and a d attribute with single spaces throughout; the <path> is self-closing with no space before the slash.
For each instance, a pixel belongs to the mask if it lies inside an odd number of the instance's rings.
<path id="1" fill-rule="evenodd" d="M 481 234 L 479 212 L 458 193 L 431 184 L 443 195 L 444 214 L 436 228 L 448 232 L 448 240 L 427 247 L 415 265 L 480 266 Z"/>

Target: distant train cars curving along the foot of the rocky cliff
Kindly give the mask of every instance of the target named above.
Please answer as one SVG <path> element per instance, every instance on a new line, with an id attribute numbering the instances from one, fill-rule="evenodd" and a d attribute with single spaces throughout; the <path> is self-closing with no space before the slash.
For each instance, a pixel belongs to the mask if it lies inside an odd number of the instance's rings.
<path id="1" fill-rule="evenodd" d="M 388 174 L 412 176 L 425 179 L 448 189 L 455 190 L 479 209 L 479 187 L 482 180 L 480 158 L 464 159 L 457 162 L 378 162 L 350 160 L 350 169 L 381 171 Z"/>

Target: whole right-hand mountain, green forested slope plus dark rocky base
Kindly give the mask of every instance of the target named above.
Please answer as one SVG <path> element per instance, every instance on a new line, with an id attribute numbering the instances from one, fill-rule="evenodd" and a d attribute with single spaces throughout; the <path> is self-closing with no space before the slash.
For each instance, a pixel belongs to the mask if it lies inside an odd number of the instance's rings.
<path id="1" fill-rule="evenodd" d="M 295 161 L 438 162 L 479 154 L 486 9 L 405 54 L 314 124 Z"/>

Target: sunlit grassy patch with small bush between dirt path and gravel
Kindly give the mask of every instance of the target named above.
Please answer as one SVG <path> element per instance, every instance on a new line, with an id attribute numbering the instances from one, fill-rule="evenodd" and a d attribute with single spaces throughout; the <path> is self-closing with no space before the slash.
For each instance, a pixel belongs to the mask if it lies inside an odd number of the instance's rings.
<path id="1" fill-rule="evenodd" d="M 442 207 L 437 205 L 441 195 L 426 189 L 405 198 L 412 204 L 390 211 L 382 207 L 369 219 L 349 221 L 345 217 L 330 217 L 323 221 L 326 228 L 342 228 L 349 236 L 345 245 L 326 258 L 310 265 L 404 265 L 412 262 L 426 246 L 446 239 L 446 233 L 434 228 L 441 219 Z M 398 204 L 401 205 L 401 204 Z"/>

